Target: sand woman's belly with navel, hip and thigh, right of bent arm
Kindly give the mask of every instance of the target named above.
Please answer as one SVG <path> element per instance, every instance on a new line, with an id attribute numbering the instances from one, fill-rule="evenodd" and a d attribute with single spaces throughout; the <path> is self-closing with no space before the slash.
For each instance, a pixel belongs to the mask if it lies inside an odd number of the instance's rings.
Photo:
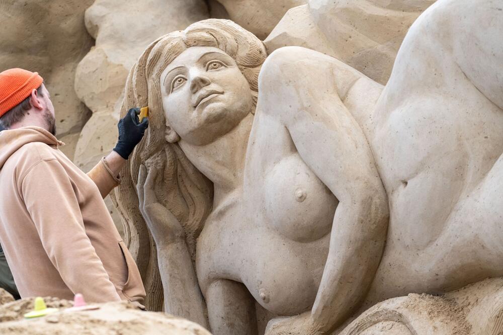
<path id="1" fill-rule="evenodd" d="M 456 24 L 446 15 L 466 16 L 476 6 L 480 17 L 488 16 L 487 4 L 455 5 L 436 4 L 420 18 L 424 23 L 416 23 L 374 112 L 369 139 L 388 194 L 390 223 L 370 302 L 446 292 L 503 274 L 497 251 L 503 211 L 496 195 L 503 173 L 503 105 L 496 98 L 501 84 L 491 82 L 501 55 L 485 54 L 493 48 L 491 30 L 482 33 L 484 28 Z M 467 51 L 460 34 L 445 45 L 448 51 L 410 61 L 415 50 L 444 41 L 432 27 L 451 27 L 453 35 L 471 30 L 470 38 L 483 47 Z"/>

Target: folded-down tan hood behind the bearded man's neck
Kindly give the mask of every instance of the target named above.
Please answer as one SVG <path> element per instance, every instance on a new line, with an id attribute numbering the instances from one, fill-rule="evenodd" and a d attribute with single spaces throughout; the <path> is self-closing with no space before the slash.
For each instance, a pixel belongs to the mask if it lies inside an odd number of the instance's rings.
<path id="1" fill-rule="evenodd" d="M 42 142 L 47 145 L 63 145 L 64 143 L 47 130 L 30 126 L 12 130 L 0 131 L 0 170 L 4 167 L 5 162 L 23 145 L 32 142 Z"/>

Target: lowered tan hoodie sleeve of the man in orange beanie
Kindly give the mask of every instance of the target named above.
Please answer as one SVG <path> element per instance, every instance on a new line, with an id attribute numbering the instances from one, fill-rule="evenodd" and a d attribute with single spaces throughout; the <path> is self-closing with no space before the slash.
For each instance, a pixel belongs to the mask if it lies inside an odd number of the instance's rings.
<path id="1" fill-rule="evenodd" d="M 72 184 L 56 159 L 41 160 L 21 180 L 26 208 L 66 286 L 88 301 L 120 301 L 86 234 Z"/>

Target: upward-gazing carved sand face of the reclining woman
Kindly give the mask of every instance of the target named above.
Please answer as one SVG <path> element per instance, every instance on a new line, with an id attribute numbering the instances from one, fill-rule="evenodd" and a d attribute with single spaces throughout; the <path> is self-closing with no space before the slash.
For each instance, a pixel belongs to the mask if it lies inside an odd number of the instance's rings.
<path id="1" fill-rule="evenodd" d="M 251 112 L 253 99 L 232 57 L 214 47 L 191 47 L 160 76 L 167 126 L 194 145 L 213 142 Z"/>

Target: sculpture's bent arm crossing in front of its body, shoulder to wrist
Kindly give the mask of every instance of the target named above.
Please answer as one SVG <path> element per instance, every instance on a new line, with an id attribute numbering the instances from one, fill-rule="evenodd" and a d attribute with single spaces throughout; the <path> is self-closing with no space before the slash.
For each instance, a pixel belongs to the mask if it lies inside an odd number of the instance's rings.
<path id="1" fill-rule="evenodd" d="M 325 333 L 344 321 L 373 280 L 388 203 L 365 135 L 339 97 L 337 64 L 312 51 L 299 60 L 306 49 L 289 49 L 264 64 L 259 87 L 277 86 L 258 109 L 280 119 L 302 159 L 339 199 L 316 300 L 300 326 L 303 333 Z"/>

